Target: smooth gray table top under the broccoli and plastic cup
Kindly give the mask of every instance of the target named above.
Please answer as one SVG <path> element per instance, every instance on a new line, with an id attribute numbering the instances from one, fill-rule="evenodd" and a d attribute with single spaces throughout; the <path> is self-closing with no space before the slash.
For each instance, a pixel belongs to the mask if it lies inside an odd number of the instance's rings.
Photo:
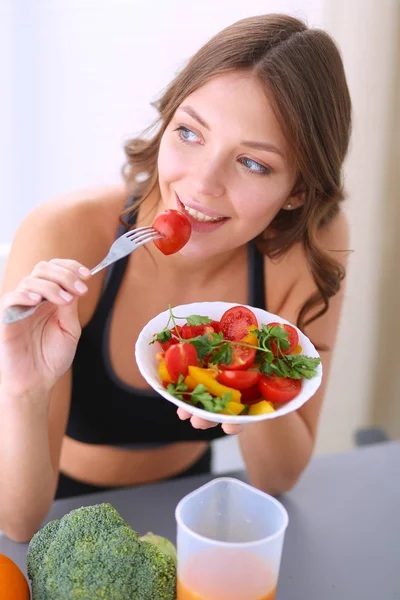
<path id="1" fill-rule="evenodd" d="M 229 473 L 245 480 L 245 473 Z M 314 458 L 281 496 L 289 513 L 276 600 L 400 600 L 400 443 Z M 79 506 L 110 502 L 141 534 L 175 541 L 174 511 L 215 477 L 57 500 L 48 521 Z M 0 534 L 0 553 L 25 571 L 27 544 Z"/>

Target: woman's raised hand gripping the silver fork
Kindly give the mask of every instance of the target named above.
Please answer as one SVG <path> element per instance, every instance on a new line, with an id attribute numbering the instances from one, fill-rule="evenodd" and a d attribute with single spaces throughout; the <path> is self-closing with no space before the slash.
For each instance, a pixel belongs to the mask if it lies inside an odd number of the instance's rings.
<path id="1" fill-rule="evenodd" d="M 11 394 L 49 391 L 69 369 L 81 334 L 78 298 L 91 273 L 75 260 L 41 261 L 0 304 L 1 386 Z M 14 304 L 35 306 L 48 300 L 30 317 L 4 324 Z"/>

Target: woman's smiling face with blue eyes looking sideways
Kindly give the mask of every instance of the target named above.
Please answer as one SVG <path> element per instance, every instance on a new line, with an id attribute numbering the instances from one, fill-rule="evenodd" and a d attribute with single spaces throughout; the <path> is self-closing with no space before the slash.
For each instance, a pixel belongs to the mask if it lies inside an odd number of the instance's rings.
<path id="1" fill-rule="evenodd" d="M 295 181 L 288 148 L 260 81 L 217 76 L 187 96 L 161 140 L 160 210 L 184 212 L 185 256 L 246 244 L 285 205 Z"/>

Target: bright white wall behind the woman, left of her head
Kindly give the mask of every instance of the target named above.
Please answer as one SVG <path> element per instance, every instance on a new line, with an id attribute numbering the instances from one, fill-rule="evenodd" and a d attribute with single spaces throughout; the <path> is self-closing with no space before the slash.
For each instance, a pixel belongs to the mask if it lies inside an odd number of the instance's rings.
<path id="1" fill-rule="evenodd" d="M 273 11 L 318 23 L 321 7 L 316 0 L 0 0 L 0 241 L 36 204 L 118 180 L 124 139 L 153 120 L 150 102 L 214 33 Z"/>

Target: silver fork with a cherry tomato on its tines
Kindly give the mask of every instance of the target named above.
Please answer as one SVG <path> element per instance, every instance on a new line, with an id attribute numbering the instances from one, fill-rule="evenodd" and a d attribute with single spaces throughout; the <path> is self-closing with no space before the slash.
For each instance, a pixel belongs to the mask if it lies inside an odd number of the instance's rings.
<path id="1" fill-rule="evenodd" d="M 147 242 L 151 242 L 162 237 L 164 236 L 152 227 L 138 227 L 137 229 L 132 229 L 131 231 L 124 233 L 112 244 L 107 256 L 98 265 L 91 269 L 92 275 L 95 275 L 102 269 L 105 269 L 120 258 L 124 258 L 124 256 L 130 254 L 136 250 L 136 248 L 143 246 L 143 244 L 147 244 Z M 48 300 L 42 300 L 39 302 L 39 304 L 36 304 L 36 306 L 27 307 L 20 304 L 9 306 L 3 315 L 3 323 L 9 324 L 15 323 L 16 321 L 22 321 L 22 319 L 26 319 L 27 317 L 33 315 L 39 306 L 45 302 L 48 302 Z"/>

